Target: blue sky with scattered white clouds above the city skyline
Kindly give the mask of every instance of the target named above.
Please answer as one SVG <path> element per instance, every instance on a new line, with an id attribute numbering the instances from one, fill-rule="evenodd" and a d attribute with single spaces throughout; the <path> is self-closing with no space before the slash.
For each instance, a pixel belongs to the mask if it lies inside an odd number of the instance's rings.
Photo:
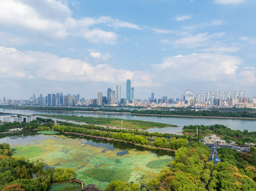
<path id="1" fill-rule="evenodd" d="M 0 0 L 0 98 L 255 97 L 255 0 Z"/>

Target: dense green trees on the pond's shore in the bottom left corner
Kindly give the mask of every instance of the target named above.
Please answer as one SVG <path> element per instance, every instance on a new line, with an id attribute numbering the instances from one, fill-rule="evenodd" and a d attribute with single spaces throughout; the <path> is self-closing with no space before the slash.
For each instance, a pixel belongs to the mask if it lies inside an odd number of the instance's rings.
<path id="1" fill-rule="evenodd" d="M 46 191 L 52 182 L 68 181 L 74 178 L 75 171 L 71 168 L 43 170 L 43 162 L 38 160 L 30 162 L 18 156 L 11 157 L 11 155 L 10 145 L 0 144 L 0 190 L 2 191 Z M 33 180 L 32 173 L 38 175 L 36 180 Z"/>

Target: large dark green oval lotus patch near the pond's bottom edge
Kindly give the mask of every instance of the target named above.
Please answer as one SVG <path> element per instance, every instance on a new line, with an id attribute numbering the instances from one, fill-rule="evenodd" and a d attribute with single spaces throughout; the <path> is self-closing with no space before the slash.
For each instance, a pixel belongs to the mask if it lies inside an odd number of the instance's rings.
<path id="1" fill-rule="evenodd" d="M 130 178 L 131 173 L 124 169 L 89 169 L 85 171 L 85 174 L 96 178 L 100 181 L 111 182 L 114 180 L 127 181 Z"/>

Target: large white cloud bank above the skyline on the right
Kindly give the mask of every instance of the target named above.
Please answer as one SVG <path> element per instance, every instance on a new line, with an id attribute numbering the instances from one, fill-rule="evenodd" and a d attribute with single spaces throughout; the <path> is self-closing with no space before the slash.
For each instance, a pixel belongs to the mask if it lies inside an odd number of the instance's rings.
<path id="1" fill-rule="evenodd" d="M 166 79 L 172 76 L 174 82 L 175 79 L 182 79 L 183 82 L 196 83 L 203 80 L 208 83 L 225 83 L 236 80 L 236 70 L 241 64 L 241 59 L 236 56 L 217 53 L 193 53 L 164 57 L 162 60 L 161 64 L 153 65 L 154 71 Z"/>

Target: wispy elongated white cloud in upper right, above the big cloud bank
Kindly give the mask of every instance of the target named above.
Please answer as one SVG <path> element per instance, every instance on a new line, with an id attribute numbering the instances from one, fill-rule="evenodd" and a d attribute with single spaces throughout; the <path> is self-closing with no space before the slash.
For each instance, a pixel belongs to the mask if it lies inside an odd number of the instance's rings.
<path id="1" fill-rule="evenodd" d="M 187 37 L 181 38 L 179 40 L 170 41 L 168 39 L 160 40 L 162 43 L 174 44 L 175 46 L 186 46 L 189 48 L 205 46 L 209 40 L 213 38 L 219 38 L 223 36 L 225 33 L 213 33 L 212 35 L 208 35 L 208 33 L 199 33 L 196 35 L 188 35 Z"/>

